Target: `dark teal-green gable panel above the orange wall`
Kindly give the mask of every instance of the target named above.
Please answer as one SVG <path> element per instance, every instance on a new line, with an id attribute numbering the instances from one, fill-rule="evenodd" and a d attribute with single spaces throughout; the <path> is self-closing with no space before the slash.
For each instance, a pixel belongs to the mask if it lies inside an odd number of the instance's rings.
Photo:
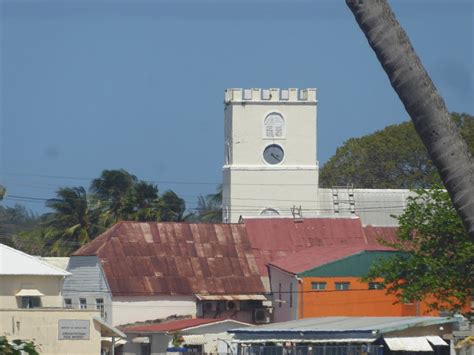
<path id="1" fill-rule="evenodd" d="M 367 276 L 370 266 L 381 258 L 390 258 L 403 253 L 396 251 L 363 251 L 343 259 L 327 263 L 298 274 L 301 277 Z"/>

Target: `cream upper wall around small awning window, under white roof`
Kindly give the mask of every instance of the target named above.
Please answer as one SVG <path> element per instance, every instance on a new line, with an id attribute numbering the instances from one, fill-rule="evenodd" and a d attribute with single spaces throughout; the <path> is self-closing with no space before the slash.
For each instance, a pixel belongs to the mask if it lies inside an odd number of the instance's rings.
<path id="1" fill-rule="evenodd" d="M 61 287 L 63 276 L 0 276 L 0 308 L 15 309 L 21 307 L 21 297 L 15 294 L 21 289 L 36 289 L 43 293 L 42 307 L 62 307 Z"/>

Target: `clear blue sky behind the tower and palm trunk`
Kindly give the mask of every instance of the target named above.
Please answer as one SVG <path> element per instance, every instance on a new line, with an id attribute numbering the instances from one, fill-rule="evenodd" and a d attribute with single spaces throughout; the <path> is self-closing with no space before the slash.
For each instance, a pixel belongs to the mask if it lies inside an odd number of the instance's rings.
<path id="1" fill-rule="evenodd" d="M 391 5 L 448 109 L 474 114 L 473 1 Z M 0 41 L 0 183 L 38 212 L 117 168 L 194 208 L 221 181 L 228 87 L 318 88 L 320 165 L 407 119 L 343 0 L 0 0 Z"/>

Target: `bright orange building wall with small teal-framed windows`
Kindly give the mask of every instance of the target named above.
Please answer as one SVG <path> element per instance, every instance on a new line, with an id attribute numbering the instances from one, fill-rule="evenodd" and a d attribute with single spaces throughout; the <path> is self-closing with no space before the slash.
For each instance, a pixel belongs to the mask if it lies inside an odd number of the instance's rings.
<path id="1" fill-rule="evenodd" d="M 312 282 L 326 282 L 326 290 L 313 290 Z M 336 291 L 335 282 L 350 282 L 350 290 Z M 305 277 L 299 284 L 298 317 L 439 315 L 423 303 L 394 304 L 395 296 L 368 287 L 358 277 Z"/>

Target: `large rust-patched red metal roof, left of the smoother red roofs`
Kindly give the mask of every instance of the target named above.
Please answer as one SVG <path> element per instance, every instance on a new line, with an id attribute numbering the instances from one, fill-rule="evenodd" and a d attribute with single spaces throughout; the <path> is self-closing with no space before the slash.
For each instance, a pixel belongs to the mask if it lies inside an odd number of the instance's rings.
<path id="1" fill-rule="evenodd" d="M 119 222 L 73 255 L 97 255 L 115 296 L 265 291 L 244 225 Z"/>

